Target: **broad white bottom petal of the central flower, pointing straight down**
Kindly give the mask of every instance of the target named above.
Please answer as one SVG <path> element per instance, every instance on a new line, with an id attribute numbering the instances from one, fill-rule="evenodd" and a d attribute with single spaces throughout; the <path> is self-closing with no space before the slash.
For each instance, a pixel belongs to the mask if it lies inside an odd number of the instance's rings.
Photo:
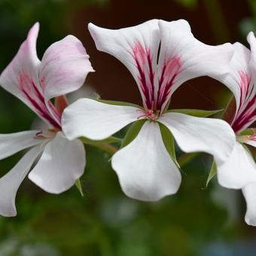
<path id="1" fill-rule="evenodd" d="M 145 122 L 136 139 L 114 154 L 112 167 L 123 192 L 138 200 L 160 200 L 175 194 L 181 184 L 181 174 L 154 122 Z"/>

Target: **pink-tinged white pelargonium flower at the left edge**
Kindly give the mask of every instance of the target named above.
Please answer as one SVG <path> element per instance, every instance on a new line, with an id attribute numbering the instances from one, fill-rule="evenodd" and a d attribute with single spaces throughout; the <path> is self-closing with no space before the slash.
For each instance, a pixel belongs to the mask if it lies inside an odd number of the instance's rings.
<path id="1" fill-rule="evenodd" d="M 84 172 L 84 145 L 78 139 L 66 139 L 62 133 L 61 117 L 66 107 L 63 95 L 78 90 L 87 74 L 93 71 L 89 56 L 81 41 L 68 35 L 52 44 L 40 61 L 36 53 L 38 30 L 39 24 L 35 23 L 0 77 L 1 86 L 22 100 L 49 126 L 49 130 L 0 135 L 1 159 L 32 148 L 0 178 L 0 214 L 4 216 L 17 214 L 17 190 L 30 169 L 29 178 L 55 194 L 72 187 Z M 56 106 L 50 101 L 54 97 Z"/>

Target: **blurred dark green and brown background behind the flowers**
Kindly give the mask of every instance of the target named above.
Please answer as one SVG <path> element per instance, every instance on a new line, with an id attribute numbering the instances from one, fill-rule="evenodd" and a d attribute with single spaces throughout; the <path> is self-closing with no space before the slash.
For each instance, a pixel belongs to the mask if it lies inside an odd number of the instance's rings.
<path id="1" fill-rule="evenodd" d="M 94 88 L 103 99 L 140 103 L 133 78 L 116 59 L 96 51 L 87 23 L 114 29 L 151 18 L 187 19 L 194 35 L 207 44 L 245 43 L 248 31 L 256 28 L 256 2 L 0 0 L 0 72 L 29 28 L 39 21 L 38 56 L 54 41 L 73 34 L 83 41 L 96 69 L 86 86 Z M 171 106 L 224 108 L 229 97 L 230 92 L 222 84 L 197 78 L 178 89 Z M 35 120 L 26 105 L 2 89 L 0 117 L 1 133 L 28 130 Z M 20 156 L 2 160 L 2 174 Z M 125 197 L 109 159 L 105 152 L 87 147 L 87 168 L 81 179 L 84 198 L 75 187 L 61 195 L 47 194 L 26 178 L 17 194 L 17 217 L 0 217 L 0 256 L 256 254 L 256 228 L 243 221 L 245 202 L 241 193 L 224 190 L 215 180 L 206 187 L 211 157 L 200 154 L 184 165 L 178 193 L 157 203 Z"/>

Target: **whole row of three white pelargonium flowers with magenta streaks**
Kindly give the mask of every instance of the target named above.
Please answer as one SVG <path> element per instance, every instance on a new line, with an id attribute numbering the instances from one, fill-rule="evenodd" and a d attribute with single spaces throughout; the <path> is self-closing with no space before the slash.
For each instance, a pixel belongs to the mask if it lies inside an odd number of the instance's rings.
<path id="1" fill-rule="evenodd" d="M 212 154 L 219 184 L 242 189 L 245 221 L 256 225 L 256 166 L 245 144 L 256 146 L 256 39 L 251 51 L 242 44 L 210 46 L 194 38 L 185 20 L 149 20 L 124 29 L 89 24 L 98 50 L 119 59 L 133 75 L 142 106 L 100 99 L 78 99 L 89 72 L 89 56 L 81 41 L 68 35 L 52 44 L 41 61 L 36 53 L 38 23 L 32 27 L 0 84 L 32 108 L 48 129 L 0 135 L 0 157 L 29 151 L 0 178 L 0 213 L 16 215 L 15 197 L 29 179 L 50 193 L 68 190 L 81 177 L 85 151 L 81 142 L 106 142 L 132 123 L 111 165 L 123 192 L 137 200 L 156 201 L 175 194 L 181 172 L 175 142 L 181 151 Z M 192 78 L 209 76 L 225 84 L 236 103 L 230 120 L 209 118 L 215 111 L 169 109 L 175 90 Z M 121 86 L 122 82 L 118 81 Z M 55 98 L 55 104 L 52 99 Z M 109 139 L 111 142 L 111 139 Z"/>

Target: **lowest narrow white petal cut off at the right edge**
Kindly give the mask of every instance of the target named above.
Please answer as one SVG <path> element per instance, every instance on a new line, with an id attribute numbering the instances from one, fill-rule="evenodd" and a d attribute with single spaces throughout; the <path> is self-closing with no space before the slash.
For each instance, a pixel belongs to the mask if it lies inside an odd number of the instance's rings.
<path id="1" fill-rule="evenodd" d="M 247 211 L 245 222 L 248 225 L 256 226 L 256 183 L 251 183 L 242 188 L 245 197 Z"/>

